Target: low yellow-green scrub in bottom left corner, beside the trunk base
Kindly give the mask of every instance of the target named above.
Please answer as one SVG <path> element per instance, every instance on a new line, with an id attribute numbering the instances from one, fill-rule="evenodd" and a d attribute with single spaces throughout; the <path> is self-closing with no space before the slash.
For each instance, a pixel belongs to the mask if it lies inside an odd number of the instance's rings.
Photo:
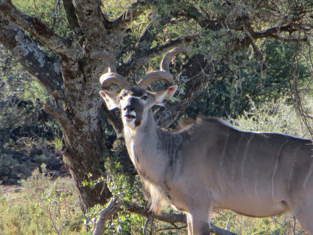
<path id="1" fill-rule="evenodd" d="M 19 193 L 0 195 L 0 234 L 81 234 L 84 217 L 69 178 L 51 180 L 39 170 Z"/>

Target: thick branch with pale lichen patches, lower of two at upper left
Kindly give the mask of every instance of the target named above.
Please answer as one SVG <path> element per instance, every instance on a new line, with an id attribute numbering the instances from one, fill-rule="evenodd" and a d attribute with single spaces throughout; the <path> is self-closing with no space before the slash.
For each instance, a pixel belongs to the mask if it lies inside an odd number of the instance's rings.
<path id="1" fill-rule="evenodd" d="M 33 39 L 2 17 L 0 17 L 0 42 L 50 94 L 61 89 L 63 81 L 59 62 L 44 55 Z"/>

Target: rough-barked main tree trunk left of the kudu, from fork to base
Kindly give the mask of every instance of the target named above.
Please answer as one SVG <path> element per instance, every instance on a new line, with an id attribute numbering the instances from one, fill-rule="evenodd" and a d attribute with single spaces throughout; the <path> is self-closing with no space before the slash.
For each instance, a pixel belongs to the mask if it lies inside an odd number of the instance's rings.
<path id="1" fill-rule="evenodd" d="M 97 204 L 104 205 L 112 195 L 103 181 L 93 186 L 82 184 L 105 177 L 102 156 L 108 149 L 99 116 L 101 85 L 95 80 L 100 69 L 91 69 L 90 58 L 77 60 L 78 63 L 69 58 L 60 60 L 62 75 L 66 76 L 64 90 L 52 93 L 56 105 L 46 104 L 45 111 L 62 126 L 64 163 L 72 174 L 82 211 L 87 213 Z M 85 64 L 83 68 L 80 63 Z"/>

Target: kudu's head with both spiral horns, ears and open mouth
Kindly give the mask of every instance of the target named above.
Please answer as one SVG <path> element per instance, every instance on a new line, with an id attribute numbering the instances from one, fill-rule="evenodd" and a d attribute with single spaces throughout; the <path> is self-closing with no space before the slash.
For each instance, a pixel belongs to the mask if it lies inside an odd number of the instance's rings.
<path id="1" fill-rule="evenodd" d="M 177 90 L 177 86 L 168 86 L 152 92 L 147 91 L 148 86 L 159 80 L 170 83 L 173 80 L 173 76 L 169 72 L 170 61 L 178 53 L 189 50 L 187 47 L 177 47 L 167 52 L 161 62 L 160 71 L 147 74 L 138 82 L 136 87 L 131 86 L 123 76 L 116 73 L 115 63 L 108 54 L 100 51 L 93 52 L 91 57 L 102 58 L 108 64 L 108 72 L 100 77 L 102 86 L 110 86 L 112 83 L 115 83 L 121 88 L 120 93 L 100 91 L 100 95 L 105 100 L 108 109 L 121 109 L 124 126 L 135 130 L 146 120 L 148 112 L 153 105 L 164 105 L 167 99 L 172 97 Z"/>

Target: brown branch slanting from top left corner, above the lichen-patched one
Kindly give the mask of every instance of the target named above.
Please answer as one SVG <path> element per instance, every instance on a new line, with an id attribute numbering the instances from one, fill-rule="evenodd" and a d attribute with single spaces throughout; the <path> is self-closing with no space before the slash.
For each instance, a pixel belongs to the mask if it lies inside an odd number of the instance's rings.
<path id="1" fill-rule="evenodd" d="M 74 53 L 72 45 L 68 41 L 60 38 L 38 18 L 33 18 L 18 10 L 11 0 L 0 1 L 0 13 L 11 22 L 17 24 L 21 29 L 32 34 L 33 37 L 51 50 L 67 55 Z"/>

